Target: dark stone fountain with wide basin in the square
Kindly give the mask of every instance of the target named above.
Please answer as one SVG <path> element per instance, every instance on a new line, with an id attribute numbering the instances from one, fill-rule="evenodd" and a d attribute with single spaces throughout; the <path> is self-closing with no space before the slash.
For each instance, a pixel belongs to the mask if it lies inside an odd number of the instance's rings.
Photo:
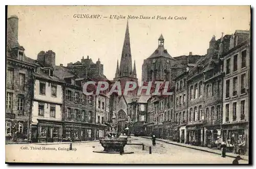
<path id="1" fill-rule="evenodd" d="M 114 114 L 114 113 L 113 113 Z M 109 137 L 105 139 L 100 139 L 99 142 L 101 146 L 104 148 L 103 151 L 93 151 L 95 153 L 119 153 L 121 146 L 125 146 L 127 144 L 127 136 L 118 136 L 118 133 L 115 132 L 115 128 L 117 124 L 115 123 L 115 114 L 112 117 L 112 132 L 109 133 Z M 125 154 L 132 154 L 134 152 L 124 152 Z"/>

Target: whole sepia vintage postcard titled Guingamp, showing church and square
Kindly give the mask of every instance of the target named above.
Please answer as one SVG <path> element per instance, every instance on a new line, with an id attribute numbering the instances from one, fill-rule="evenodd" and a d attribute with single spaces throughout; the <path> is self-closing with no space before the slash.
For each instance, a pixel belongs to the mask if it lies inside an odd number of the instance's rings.
<path id="1" fill-rule="evenodd" d="M 8 6 L 6 162 L 249 164 L 250 10 Z"/>

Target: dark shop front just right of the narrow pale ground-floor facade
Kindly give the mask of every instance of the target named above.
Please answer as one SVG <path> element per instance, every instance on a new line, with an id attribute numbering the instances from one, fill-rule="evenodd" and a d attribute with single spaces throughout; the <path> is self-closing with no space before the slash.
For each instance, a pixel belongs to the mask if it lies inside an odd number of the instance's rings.
<path id="1" fill-rule="evenodd" d="M 187 143 L 195 146 L 203 146 L 203 127 L 202 125 L 190 125 L 186 126 L 187 130 Z"/>

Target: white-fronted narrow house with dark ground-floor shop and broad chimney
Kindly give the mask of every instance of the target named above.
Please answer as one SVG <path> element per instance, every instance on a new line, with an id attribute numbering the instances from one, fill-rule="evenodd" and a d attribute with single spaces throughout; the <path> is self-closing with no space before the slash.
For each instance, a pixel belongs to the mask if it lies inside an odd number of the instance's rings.
<path id="1" fill-rule="evenodd" d="M 62 96 L 65 83 L 54 75 L 54 52 L 41 51 L 36 62 L 39 66 L 33 73 L 32 142 L 61 141 Z"/>

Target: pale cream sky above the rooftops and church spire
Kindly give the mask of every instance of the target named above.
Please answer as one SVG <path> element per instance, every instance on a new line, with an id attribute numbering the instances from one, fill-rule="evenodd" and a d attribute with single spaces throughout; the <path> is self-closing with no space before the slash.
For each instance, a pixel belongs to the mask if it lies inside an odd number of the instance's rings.
<path id="1" fill-rule="evenodd" d="M 75 14 L 100 17 L 74 18 Z M 82 57 L 89 56 L 93 62 L 99 58 L 109 80 L 115 77 L 117 60 L 120 63 L 128 15 L 151 17 L 129 19 L 132 61 L 136 60 L 139 81 L 143 60 L 157 49 L 161 34 L 172 57 L 189 52 L 205 55 L 213 35 L 218 39 L 222 33 L 231 35 L 250 27 L 249 6 L 8 6 L 11 15 L 19 18 L 18 41 L 26 56 L 36 59 L 40 51 L 52 50 L 55 64 L 64 66 Z M 175 20 L 175 16 L 186 20 Z"/>

